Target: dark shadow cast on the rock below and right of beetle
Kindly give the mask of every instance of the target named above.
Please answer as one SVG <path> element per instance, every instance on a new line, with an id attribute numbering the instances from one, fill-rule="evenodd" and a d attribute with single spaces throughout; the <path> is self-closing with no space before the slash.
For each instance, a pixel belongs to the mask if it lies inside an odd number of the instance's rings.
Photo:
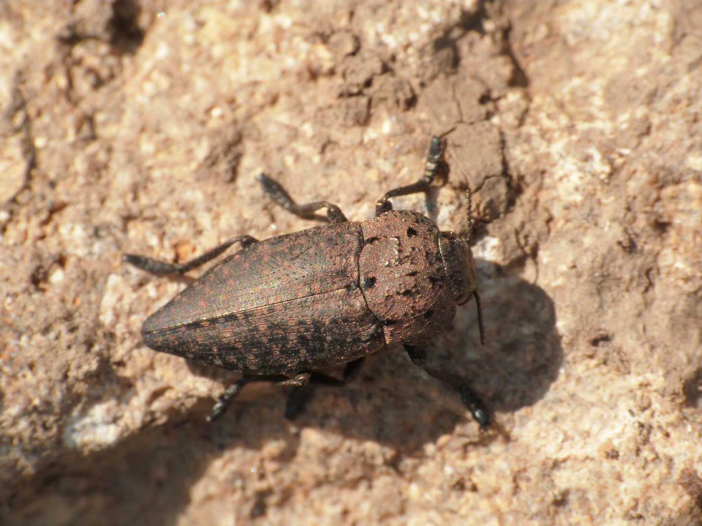
<path id="1" fill-rule="evenodd" d="M 402 347 L 391 347 L 366 360 L 349 386 L 317 388 L 293 422 L 282 417 L 286 397 L 279 386 L 251 387 L 211 425 L 204 418 L 212 400 L 204 398 L 189 413 L 168 414 L 166 424 L 143 429 L 110 450 L 62 459 L 42 476 L 27 478 L 12 507 L 25 509 L 29 501 L 37 511 L 58 499 L 69 508 L 77 506 L 86 524 L 173 525 L 190 502 L 193 485 L 223 452 L 237 448 L 237 454 L 252 459 L 251 465 L 238 465 L 241 473 L 234 467 L 227 473 L 231 492 L 237 492 L 237 480 L 249 480 L 251 468 L 262 467 L 255 463 L 270 441 L 285 445 L 274 459 L 266 454 L 267 461 L 291 463 L 305 428 L 390 446 L 395 451 L 388 461 L 392 466 L 402 457 L 422 456 L 426 444 L 445 434 L 463 440 L 464 447 L 481 447 L 500 436 L 499 422 L 510 412 L 543 397 L 557 377 L 562 349 L 553 304 L 541 288 L 503 276 L 503 269 L 492 264 L 478 261 L 477 269 L 486 345 L 477 343 L 475 305 L 469 303 L 459 309 L 454 330 L 428 346 L 428 359 L 432 366 L 470 380 L 495 412 L 493 429 L 478 431 L 454 391 L 414 367 Z M 200 366 L 194 370 L 227 376 Z M 258 504 L 245 513 L 255 513 Z"/>

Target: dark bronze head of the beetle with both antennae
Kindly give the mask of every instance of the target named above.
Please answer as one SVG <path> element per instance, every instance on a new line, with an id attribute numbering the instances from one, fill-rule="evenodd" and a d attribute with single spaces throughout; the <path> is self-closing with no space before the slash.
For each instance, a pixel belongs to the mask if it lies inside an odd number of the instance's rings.
<path id="1" fill-rule="evenodd" d="M 439 238 L 439 251 L 444 263 L 446 281 L 453 294 L 456 304 L 463 305 L 471 297 L 475 297 L 478 309 L 478 325 L 480 328 L 480 341 L 484 342 L 484 328 L 482 323 L 482 311 L 480 309 L 480 298 L 477 292 L 477 277 L 475 276 L 475 262 L 473 253 L 470 250 L 470 236 L 472 236 L 473 222 L 471 214 L 471 194 L 470 189 L 465 194 L 466 208 L 468 210 L 468 234 L 465 238 L 457 236 L 453 232 L 442 232 Z"/>

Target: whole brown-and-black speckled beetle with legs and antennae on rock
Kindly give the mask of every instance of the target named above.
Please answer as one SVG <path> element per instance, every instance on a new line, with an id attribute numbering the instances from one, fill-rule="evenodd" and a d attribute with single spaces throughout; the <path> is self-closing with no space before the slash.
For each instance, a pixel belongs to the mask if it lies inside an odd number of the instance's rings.
<path id="1" fill-rule="evenodd" d="M 473 418 L 485 427 L 484 404 L 463 379 L 428 366 L 423 344 L 451 326 L 456 306 L 475 298 L 480 341 L 482 311 L 470 250 L 471 194 L 466 192 L 468 234 L 440 231 L 428 217 L 393 210 L 390 198 L 427 191 L 442 166 L 444 142 L 432 136 L 424 175 L 388 191 L 371 220 L 349 222 L 327 201 L 300 205 L 271 177 L 258 176 L 270 198 L 298 217 L 329 224 L 258 241 L 231 238 L 184 264 L 141 255 L 124 260 L 151 274 L 185 274 L 222 254 L 214 265 L 143 323 L 151 349 L 243 373 L 213 407 L 208 421 L 249 382 L 343 385 L 371 353 L 402 344 L 411 361 L 452 386 Z M 344 365 L 343 379 L 319 369 Z M 301 403 L 293 389 L 286 417 Z"/>

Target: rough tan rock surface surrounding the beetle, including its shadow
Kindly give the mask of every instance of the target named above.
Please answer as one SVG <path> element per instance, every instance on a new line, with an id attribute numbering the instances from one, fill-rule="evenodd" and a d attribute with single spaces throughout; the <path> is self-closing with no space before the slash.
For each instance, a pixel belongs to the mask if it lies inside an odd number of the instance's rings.
<path id="1" fill-rule="evenodd" d="M 0 1 L 0 522 L 702 524 L 702 4 Z M 183 288 L 121 264 L 372 216 L 465 231 L 475 307 L 294 422 L 139 328 Z M 197 274 L 197 273 L 195 273 Z"/>

